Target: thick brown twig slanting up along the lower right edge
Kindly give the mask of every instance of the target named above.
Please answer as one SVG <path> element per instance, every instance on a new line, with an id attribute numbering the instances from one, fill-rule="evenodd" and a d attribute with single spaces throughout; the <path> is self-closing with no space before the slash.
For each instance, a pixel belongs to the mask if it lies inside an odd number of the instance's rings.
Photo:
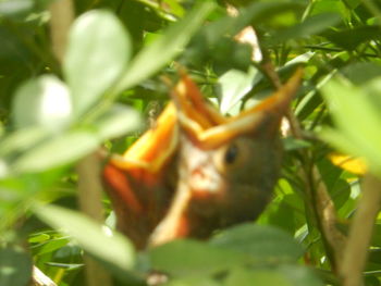
<path id="1" fill-rule="evenodd" d="M 358 201 L 341 263 L 340 275 L 343 286 L 364 285 L 362 271 L 368 258 L 374 220 L 380 211 L 380 202 L 381 181 L 367 174 L 362 181 L 362 197 Z"/>

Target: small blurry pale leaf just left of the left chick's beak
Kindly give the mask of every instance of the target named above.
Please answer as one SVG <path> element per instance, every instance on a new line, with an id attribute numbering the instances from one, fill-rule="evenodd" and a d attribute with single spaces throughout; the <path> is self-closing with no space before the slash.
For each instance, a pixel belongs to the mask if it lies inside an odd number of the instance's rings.
<path id="1" fill-rule="evenodd" d="M 122 104 L 114 104 L 110 111 L 94 122 L 102 140 L 122 136 L 140 126 L 139 113 Z"/>

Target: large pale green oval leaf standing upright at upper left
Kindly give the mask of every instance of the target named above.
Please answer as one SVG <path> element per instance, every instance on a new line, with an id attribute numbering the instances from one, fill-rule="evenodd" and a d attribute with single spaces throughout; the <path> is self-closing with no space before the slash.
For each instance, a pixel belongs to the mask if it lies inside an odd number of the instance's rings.
<path id="1" fill-rule="evenodd" d="M 76 114 L 87 111 L 111 87 L 130 55 L 128 34 L 111 12 L 90 11 L 74 22 L 63 71 Z"/>

